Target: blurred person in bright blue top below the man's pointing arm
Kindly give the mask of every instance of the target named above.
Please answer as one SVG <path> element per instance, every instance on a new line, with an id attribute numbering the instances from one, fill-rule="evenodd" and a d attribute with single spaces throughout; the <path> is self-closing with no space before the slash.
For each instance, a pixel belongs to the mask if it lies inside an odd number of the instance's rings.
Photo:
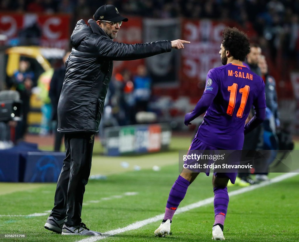
<path id="1" fill-rule="evenodd" d="M 147 111 L 147 106 L 151 96 L 152 79 L 147 74 L 147 69 L 144 65 L 139 65 L 137 75 L 133 78 L 134 97 L 136 101 L 136 111 Z"/>

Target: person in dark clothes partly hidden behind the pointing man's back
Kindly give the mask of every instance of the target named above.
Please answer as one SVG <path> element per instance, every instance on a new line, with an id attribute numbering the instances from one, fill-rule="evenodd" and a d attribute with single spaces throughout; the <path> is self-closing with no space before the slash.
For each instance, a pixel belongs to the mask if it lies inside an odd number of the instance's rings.
<path id="1" fill-rule="evenodd" d="M 54 143 L 54 151 L 60 151 L 61 141 L 63 138 L 63 133 L 57 132 L 57 124 L 58 124 L 58 116 L 57 116 L 57 107 L 58 101 L 60 97 L 60 93 L 62 90 L 63 80 L 65 77 L 65 61 L 70 55 L 71 52 L 66 52 L 65 56 L 62 58 L 62 65 L 60 68 L 54 70 L 49 89 L 49 97 L 51 99 L 52 105 L 52 121 L 55 123 L 54 134 L 55 134 L 55 143 Z"/>

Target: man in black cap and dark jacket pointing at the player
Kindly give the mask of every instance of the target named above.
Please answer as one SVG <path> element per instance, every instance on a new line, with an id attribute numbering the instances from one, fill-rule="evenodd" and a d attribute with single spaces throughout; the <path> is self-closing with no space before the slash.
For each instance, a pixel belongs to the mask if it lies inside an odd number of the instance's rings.
<path id="1" fill-rule="evenodd" d="M 58 132 L 65 135 L 66 155 L 57 182 L 54 208 L 45 228 L 63 235 L 99 235 L 81 222 L 85 185 L 88 182 L 94 134 L 103 111 L 113 62 L 134 60 L 184 48 L 184 40 L 123 44 L 113 41 L 123 21 L 113 5 L 103 5 L 83 20 L 71 35 L 72 51 L 58 103 Z M 66 216 L 66 220 L 64 220 Z"/>

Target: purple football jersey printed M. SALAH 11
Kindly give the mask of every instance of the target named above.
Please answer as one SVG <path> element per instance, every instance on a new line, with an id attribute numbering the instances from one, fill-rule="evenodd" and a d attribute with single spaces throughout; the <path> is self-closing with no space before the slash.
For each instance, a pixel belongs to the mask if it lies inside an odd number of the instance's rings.
<path id="1" fill-rule="evenodd" d="M 245 66 L 230 63 L 209 71 L 205 93 L 215 98 L 195 137 L 221 149 L 242 149 L 252 105 L 266 108 L 263 79 Z"/>

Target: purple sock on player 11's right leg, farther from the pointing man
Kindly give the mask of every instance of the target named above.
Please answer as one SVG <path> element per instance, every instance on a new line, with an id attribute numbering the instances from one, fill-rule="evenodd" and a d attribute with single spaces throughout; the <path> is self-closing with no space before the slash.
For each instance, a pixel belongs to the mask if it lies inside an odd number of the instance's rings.
<path id="1" fill-rule="evenodd" d="M 214 188 L 214 212 L 215 212 L 215 223 L 221 224 L 222 228 L 224 225 L 225 216 L 228 207 L 228 191 L 227 187 L 215 187 Z"/>

